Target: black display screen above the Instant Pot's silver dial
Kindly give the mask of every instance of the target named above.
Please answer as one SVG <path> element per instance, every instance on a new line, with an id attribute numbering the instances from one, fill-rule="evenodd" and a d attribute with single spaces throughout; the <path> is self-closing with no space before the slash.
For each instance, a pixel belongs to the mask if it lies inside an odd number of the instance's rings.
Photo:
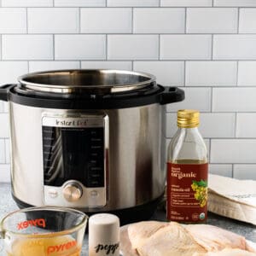
<path id="1" fill-rule="evenodd" d="M 44 185 L 104 187 L 104 128 L 43 126 Z"/>

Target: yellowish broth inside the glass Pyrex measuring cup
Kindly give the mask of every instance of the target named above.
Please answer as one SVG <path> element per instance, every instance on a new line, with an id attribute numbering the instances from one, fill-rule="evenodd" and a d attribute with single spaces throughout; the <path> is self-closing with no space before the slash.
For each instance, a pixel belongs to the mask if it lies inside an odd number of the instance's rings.
<path id="1" fill-rule="evenodd" d="M 81 247 L 72 236 L 29 238 L 15 241 L 8 256 L 80 256 Z"/>

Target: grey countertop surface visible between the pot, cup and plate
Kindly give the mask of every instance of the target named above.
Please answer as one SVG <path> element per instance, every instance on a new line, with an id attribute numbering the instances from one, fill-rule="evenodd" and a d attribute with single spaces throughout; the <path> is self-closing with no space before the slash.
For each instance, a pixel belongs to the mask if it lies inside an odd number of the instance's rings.
<path id="1" fill-rule="evenodd" d="M 10 191 L 9 183 L 0 183 L 0 219 L 3 218 L 8 212 L 17 210 L 18 207 L 13 201 Z M 166 220 L 166 213 L 163 210 L 158 210 L 154 213 L 152 219 Z M 218 215 L 209 213 L 207 224 L 216 225 L 225 230 L 233 231 L 241 236 L 245 236 L 247 240 L 256 242 L 256 226 L 253 224 L 246 224 L 234 219 L 220 217 Z M 84 246 L 82 255 L 88 254 L 88 236 L 84 236 Z"/>

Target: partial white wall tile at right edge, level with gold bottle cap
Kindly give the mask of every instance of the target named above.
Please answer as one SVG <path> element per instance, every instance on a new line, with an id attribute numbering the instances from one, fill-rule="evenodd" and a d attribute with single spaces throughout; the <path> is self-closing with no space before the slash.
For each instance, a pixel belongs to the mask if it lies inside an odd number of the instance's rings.
<path id="1" fill-rule="evenodd" d="M 237 113 L 236 137 L 256 137 L 256 113 Z"/>

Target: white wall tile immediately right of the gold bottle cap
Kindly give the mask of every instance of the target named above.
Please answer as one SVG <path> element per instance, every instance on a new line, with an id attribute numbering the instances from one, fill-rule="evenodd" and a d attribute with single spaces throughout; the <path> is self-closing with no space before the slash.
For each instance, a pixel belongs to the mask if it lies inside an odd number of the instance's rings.
<path id="1" fill-rule="evenodd" d="M 235 124 L 236 113 L 201 113 L 200 115 L 200 131 L 205 138 L 235 137 Z"/>

